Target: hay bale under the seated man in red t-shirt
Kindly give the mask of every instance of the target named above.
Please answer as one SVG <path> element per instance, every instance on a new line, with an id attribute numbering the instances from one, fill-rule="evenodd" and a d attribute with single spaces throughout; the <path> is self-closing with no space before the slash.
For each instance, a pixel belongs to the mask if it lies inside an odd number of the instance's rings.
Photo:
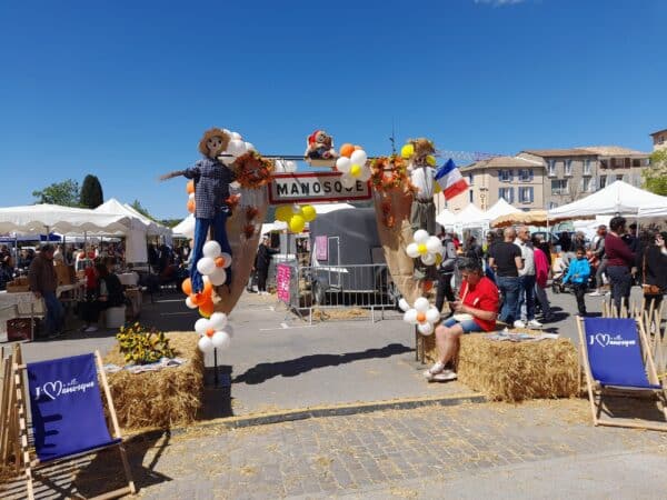
<path id="1" fill-rule="evenodd" d="M 496 401 L 570 398 L 578 394 L 577 349 L 569 339 L 495 341 L 461 337 L 458 380 Z"/>

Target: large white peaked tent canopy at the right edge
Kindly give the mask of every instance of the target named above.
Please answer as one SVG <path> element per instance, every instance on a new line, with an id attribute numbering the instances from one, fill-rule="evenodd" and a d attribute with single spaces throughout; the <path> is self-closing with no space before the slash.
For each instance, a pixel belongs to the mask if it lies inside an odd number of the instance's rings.
<path id="1" fill-rule="evenodd" d="M 641 207 L 667 206 L 667 197 L 645 191 L 624 181 L 616 181 L 605 189 L 548 211 L 549 219 L 577 219 L 604 214 L 636 216 Z"/>

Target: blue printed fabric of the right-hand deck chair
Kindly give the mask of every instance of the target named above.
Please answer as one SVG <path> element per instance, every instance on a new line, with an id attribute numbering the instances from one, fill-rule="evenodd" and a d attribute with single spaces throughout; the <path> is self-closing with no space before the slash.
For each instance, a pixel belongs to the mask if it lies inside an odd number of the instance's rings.
<path id="1" fill-rule="evenodd" d="M 601 386 L 661 389 L 649 383 L 641 342 L 634 319 L 584 319 L 586 349 L 593 378 Z"/>

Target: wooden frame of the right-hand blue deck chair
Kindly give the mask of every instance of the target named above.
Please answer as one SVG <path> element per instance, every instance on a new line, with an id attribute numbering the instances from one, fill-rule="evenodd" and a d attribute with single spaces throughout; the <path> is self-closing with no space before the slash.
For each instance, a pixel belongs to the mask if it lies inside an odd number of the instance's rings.
<path id="1" fill-rule="evenodd" d="M 603 387 L 597 380 L 593 378 L 590 370 L 590 363 L 588 361 L 588 348 L 586 343 L 586 337 L 584 334 L 584 320 L 577 318 L 577 330 L 579 332 L 579 356 L 581 363 L 584 364 L 584 374 L 586 377 L 586 386 L 588 388 L 588 401 L 590 403 L 590 413 L 593 416 L 594 426 L 609 426 L 609 427 L 625 427 L 634 429 L 648 429 L 667 432 L 667 396 L 665 389 L 641 389 L 641 388 L 624 388 L 624 387 Z M 637 318 L 637 333 L 639 337 L 641 350 L 647 353 L 645 357 L 645 368 L 648 376 L 649 383 L 659 384 L 658 374 L 654 364 L 653 357 L 650 354 L 650 346 L 646 338 L 646 331 L 644 330 L 644 323 L 641 318 Z M 615 392 L 618 396 L 637 397 L 639 394 L 654 393 L 658 397 L 658 401 L 663 407 L 663 414 L 665 416 L 665 423 L 639 423 L 635 421 L 624 421 L 623 419 L 603 418 L 603 398 L 606 394 Z"/>

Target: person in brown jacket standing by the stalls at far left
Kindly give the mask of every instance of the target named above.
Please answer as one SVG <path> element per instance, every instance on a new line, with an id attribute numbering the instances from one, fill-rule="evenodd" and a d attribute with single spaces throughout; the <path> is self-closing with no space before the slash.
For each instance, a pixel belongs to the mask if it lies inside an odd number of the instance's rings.
<path id="1" fill-rule="evenodd" d="M 42 246 L 28 270 L 30 290 L 37 299 L 43 299 L 47 307 L 44 333 L 50 339 L 60 336 L 64 322 L 62 304 L 56 297 L 58 277 L 53 267 L 53 251 L 52 244 Z"/>

